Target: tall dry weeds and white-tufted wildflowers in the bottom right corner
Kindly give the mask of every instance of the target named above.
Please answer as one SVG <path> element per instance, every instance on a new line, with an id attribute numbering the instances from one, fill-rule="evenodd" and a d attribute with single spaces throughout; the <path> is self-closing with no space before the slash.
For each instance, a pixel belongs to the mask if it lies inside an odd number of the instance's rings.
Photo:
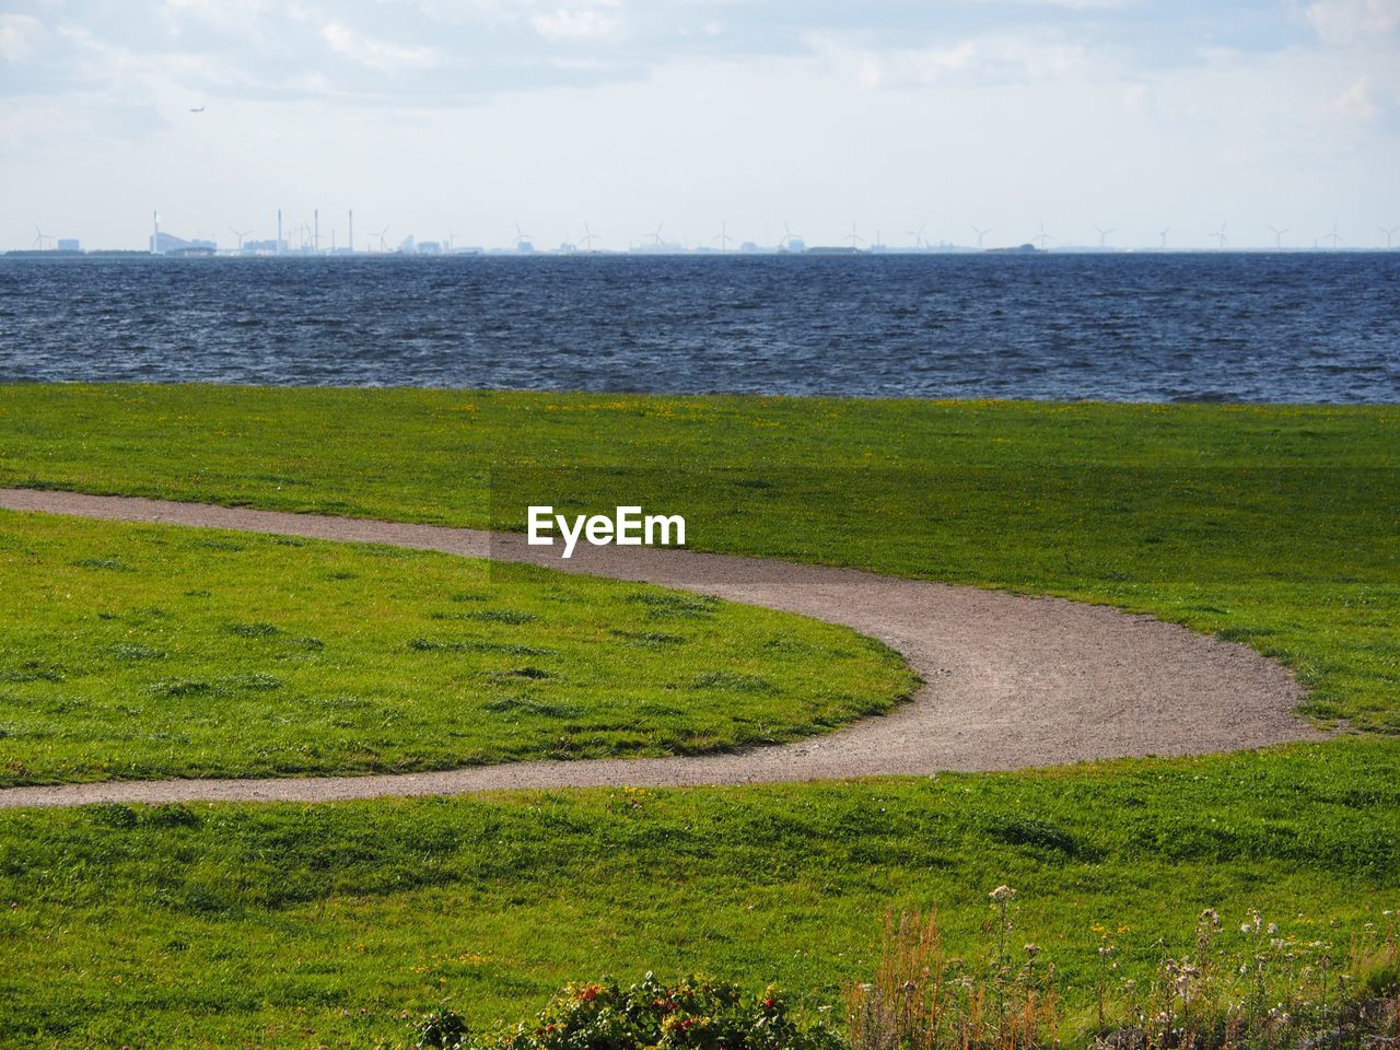
<path id="1" fill-rule="evenodd" d="M 1065 1021 L 1054 965 L 1016 949 L 1015 890 L 998 886 L 977 962 L 944 951 L 932 911 L 885 917 L 872 980 L 847 994 L 851 1050 L 1046 1050 Z M 1400 937 L 1387 911 L 1345 945 L 1289 935 L 1250 911 L 1238 934 L 1200 913 L 1183 951 L 1151 980 L 1114 983 L 1100 931 L 1095 1025 L 1070 1042 L 1096 1050 L 1400 1050 Z"/>

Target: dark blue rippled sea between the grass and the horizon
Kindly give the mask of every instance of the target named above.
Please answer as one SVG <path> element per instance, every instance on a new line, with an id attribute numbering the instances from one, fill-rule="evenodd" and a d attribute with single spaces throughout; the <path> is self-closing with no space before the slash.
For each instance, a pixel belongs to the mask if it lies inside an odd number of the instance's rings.
<path id="1" fill-rule="evenodd" d="M 0 259 L 0 379 L 1400 400 L 1400 252 Z"/>

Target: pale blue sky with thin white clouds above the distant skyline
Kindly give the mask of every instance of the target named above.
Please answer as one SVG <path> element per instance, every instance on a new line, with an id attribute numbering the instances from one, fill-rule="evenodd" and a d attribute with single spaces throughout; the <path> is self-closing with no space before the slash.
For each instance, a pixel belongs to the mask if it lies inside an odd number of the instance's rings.
<path id="1" fill-rule="evenodd" d="M 0 248 L 277 209 L 361 248 L 1376 246 L 1400 0 L 0 0 Z"/>

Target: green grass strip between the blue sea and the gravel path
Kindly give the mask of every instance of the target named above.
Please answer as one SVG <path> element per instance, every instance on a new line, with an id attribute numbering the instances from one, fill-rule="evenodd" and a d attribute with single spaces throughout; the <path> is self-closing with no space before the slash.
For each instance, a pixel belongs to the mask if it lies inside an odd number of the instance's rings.
<path id="1" fill-rule="evenodd" d="M 1247 640 L 1400 731 L 1400 409 L 0 388 L 0 483 L 522 528 L 1112 602 Z"/>

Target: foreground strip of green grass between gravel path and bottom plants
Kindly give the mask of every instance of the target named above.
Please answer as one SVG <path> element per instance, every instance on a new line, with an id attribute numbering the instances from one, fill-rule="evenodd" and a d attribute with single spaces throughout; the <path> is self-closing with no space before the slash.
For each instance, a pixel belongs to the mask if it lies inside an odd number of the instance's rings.
<path id="1" fill-rule="evenodd" d="M 886 906 L 951 953 L 1019 890 L 1015 942 L 1084 1019 L 1257 907 L 1344 952 L 1400 895 L 1390 746 L 1022 776 L 319 806 L 0 813 L 7 1046 L 375 1046 L 449 997 L 514 1019 L 563 980 L 690 969 L 811 1007 L 867 972 Z M 1158 944 L 1165 938 L 1165 946 Z"/>

